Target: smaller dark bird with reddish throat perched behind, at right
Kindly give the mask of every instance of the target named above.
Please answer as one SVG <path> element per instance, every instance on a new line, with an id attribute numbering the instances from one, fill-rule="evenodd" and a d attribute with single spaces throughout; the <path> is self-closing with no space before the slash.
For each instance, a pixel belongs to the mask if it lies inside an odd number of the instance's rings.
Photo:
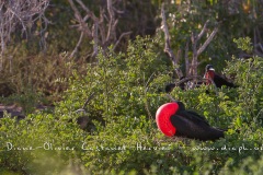
<path id="1" fill-rule="evenodd" d="M 215 85 L 216 85 L 217 88 L 219 88 L 219 89 L 220 89 L 222 85 L 226 85 L 226 86 L 228 86 L 228 88 L 237 88 L 233 83 L 228 82 L 228 81 L 225 80 L 222 77 L 220 77 L 219 74 L 217 74 L 217 73 L 215 72 L 215 69 L 214 69 L 214 67 L 213 67 L 211 65 L 207 65 L 207 66 L 206 66 L 206 72 L 205 72 L 204 78 L 207 79 L 207 82 L 206 82 L 207 85 L 208 85 L 208 84 L 211 84 L 211 81 L 210 81 L 210 80 L 213 80 L 213 81 L 215 82 Z"/>

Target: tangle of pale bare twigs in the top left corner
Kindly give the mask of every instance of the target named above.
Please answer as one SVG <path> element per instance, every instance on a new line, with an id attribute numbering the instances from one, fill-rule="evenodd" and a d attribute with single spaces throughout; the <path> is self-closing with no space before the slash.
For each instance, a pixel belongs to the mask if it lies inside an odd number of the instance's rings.
<path id="1" fill-rule="evenodd" d="M 48 20 L 44 13 L 49 5 L 49 0 L 16 0 L 16 1 L 0 1 L 0 71 L 2 70 L 2 60 L 4 57 L 7 43 L 10 42 L 11 34 L 18 31 L 16 26 L 22 26 L 22 34 L 25 34 L 27 38 L 27 32 L 30 32 L 33 23 L 37 20 L 44 24 L 39 32 L 42 43 L 45 43 L 45 36 L 43 33 L 46 30 Z"/>

